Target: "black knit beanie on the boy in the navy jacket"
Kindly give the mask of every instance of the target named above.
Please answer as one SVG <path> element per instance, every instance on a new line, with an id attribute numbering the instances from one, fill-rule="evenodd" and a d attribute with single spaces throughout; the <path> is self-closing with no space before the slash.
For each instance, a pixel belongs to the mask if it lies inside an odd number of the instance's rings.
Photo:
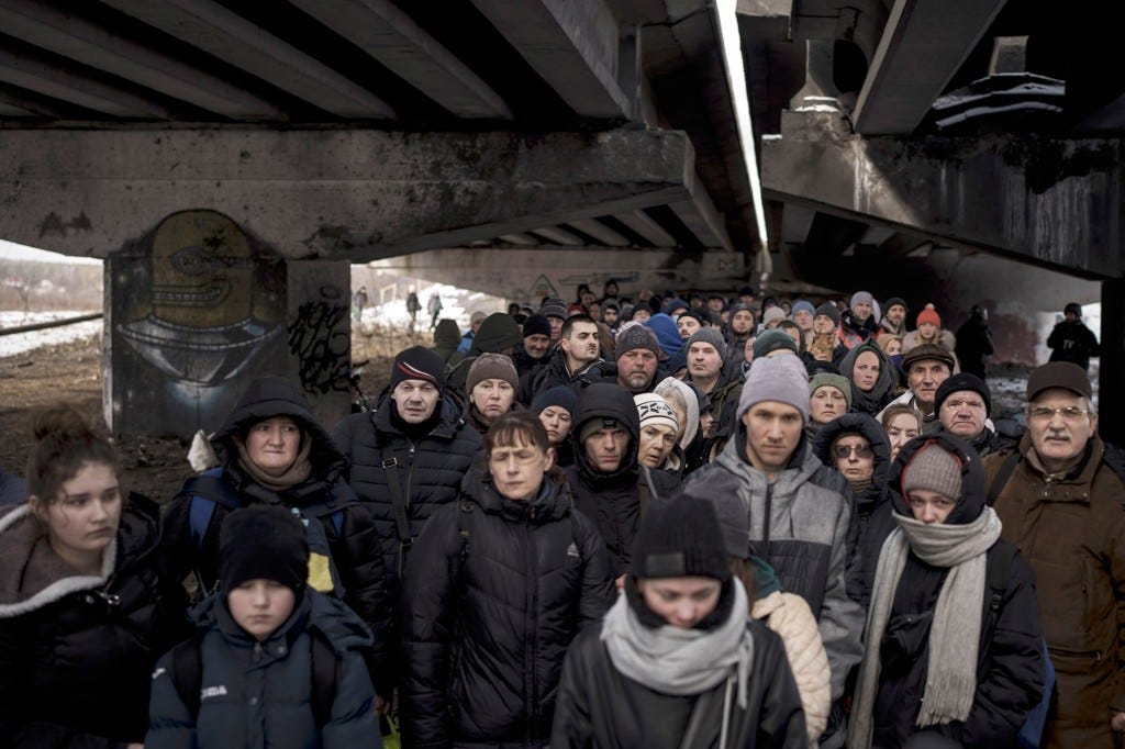
<path id="1" fill-rule="evenodd" d="M 218 580 L 224 594 L 248 580 L 274 580 L 300 592 L 308 579 L 305 526 L 280 505 L 251 505 L 223 521 Z"/>

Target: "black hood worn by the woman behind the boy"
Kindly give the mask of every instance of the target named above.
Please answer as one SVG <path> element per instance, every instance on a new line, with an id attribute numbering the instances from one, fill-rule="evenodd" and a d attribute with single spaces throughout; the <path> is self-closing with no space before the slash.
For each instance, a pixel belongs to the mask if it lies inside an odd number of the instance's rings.
<path id="1" fill-rule="evenodd" d="M 274 416 L 288 416 L 300 424 L 304 437 L 313 441 L 308 453 L 313 476 L 330 484 L 334 481 L 343 471 L 344 457 L 316 421 L 300 389 L 284 377 L 263 377 L 246 388 L 226 422 L 212 435 L 212 446 L 219 463 L 226 468 L 237 466 L 238 449 L 234 437 L 244 435 L 251 425 Z"/>

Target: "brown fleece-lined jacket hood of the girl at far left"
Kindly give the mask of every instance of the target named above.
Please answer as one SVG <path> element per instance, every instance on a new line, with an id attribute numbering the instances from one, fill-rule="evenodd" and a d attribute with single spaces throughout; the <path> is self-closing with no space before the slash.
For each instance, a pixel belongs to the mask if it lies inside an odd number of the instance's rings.
<path id="1" fill-rule="evenodd" d="M 36 611 L 79 590 L 104 586 L 122 563 L 155 550 L 160 509 L 129 496 L 98 575 L 80 575 L 54 552 L 27 503 L 0 509 L 0 619 Z"/>

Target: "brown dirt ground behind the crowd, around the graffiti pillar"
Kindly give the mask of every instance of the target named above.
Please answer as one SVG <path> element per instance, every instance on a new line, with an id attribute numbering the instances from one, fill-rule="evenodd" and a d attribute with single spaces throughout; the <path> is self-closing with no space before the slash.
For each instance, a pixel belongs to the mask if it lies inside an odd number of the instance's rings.
<path id="1" fill-rule="evenodd" d="M 389 378 L 394 354 L 414 344 L 432 345 L 431 336 L 369 325 L 356 331 L 352 361 L 361 372 L 362 391 L 377 394 Z M 101 386 L 100 336 L 0 359 L 0 466 L 4 471 L 25 472 L 32 443 L 30 415 L 36 407 L 62 400 L 91 423 L 104 423 Z M 168 502 L 191 475 L 188 446 L 188 440 L 171 434 L 122 437 L 123 484 L 159 503 Z"/>

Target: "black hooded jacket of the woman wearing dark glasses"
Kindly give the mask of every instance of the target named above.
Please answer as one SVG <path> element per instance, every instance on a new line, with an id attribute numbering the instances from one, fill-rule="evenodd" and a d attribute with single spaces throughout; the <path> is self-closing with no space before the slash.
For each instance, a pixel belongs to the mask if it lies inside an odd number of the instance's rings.
<path id="1" fill-rule="evenodd" d="M 875 584 L 879 552 L 894 529 L 886 487 L 891 475 L 891 445 L 886 441 L 886 431 L 873 417 L 866 414 L 844 414 L 821 426 L 812 441 L 812 451 L 820 462 L 828 468 L 836 464 L 830 454 L 832 442 L 848 432 L 863 435 L 874 453 L 871 486 L 860 494 L 852 495 L 855 500 L 856 549 L 860 553 L 860 563 L 856 567 L 858 574 L 848 579 L 848 595 L 866 608 L 871 603 L 872 586 Z"/>

